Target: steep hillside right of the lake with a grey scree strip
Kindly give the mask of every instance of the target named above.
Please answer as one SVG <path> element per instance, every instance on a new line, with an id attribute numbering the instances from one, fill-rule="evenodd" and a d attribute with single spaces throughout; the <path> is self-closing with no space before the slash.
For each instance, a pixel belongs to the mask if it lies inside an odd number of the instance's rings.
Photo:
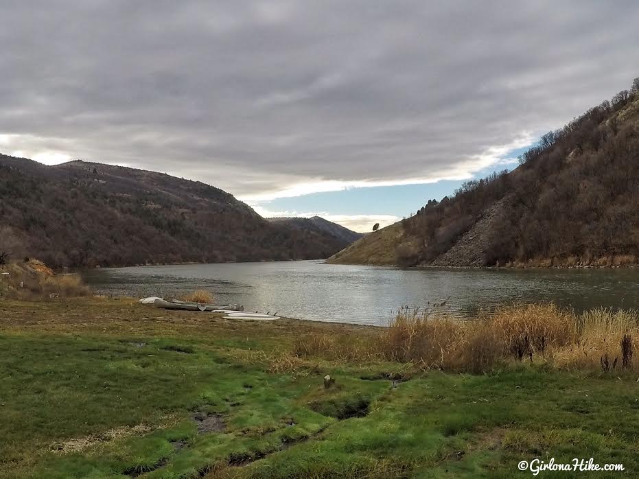
<path id="1" fill-rule="evenodd" d="M 546 133 L 511 172 L 371 233 L 332 263 L 622 266 L 639 258 L 639 79 Z"/>

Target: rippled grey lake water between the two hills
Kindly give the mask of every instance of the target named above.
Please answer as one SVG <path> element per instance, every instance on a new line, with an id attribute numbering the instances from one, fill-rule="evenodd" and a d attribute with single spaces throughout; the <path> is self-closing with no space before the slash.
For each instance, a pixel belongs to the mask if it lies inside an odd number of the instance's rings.
<path id="1" fill-rule="evenodd" d="M 555 301 L 577 310 L 639 309 L 639 269 L 409 270 L 281 261 L 143 266 L 84 272 L 96 292 L 172 298 L 205 289 L 247 311 L 386 325 L 402 305 L 466 316 L 511 301 Z"/>

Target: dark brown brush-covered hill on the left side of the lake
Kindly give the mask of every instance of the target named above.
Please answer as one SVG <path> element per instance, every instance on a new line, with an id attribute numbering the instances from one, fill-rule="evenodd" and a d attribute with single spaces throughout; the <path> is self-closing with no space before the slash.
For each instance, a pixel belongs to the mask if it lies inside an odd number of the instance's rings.
<path id="1" fill-rule="evenodd" d="M 21 253 L 56 268 L 322 259 L 347 244 L 316 227 L 269 222 L 204 183 L 100 163 L 45 166 L 4 155 L 0 227 L 19 239 Z"/>

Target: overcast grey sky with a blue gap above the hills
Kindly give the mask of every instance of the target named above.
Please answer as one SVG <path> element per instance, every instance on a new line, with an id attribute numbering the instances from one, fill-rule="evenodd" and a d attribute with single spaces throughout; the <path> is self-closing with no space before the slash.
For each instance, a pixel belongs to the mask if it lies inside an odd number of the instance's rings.
<path id="1" fill-rule="evenodd" d="M 369 231 L 639 75 L 639 3 L 3 0 L 0 152 Z"/>

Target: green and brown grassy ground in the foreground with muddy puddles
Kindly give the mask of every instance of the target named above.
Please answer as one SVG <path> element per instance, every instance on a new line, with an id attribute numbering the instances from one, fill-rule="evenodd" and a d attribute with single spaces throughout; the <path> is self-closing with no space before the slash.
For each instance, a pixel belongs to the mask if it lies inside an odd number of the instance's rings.
<path id="1" fill-rule="evenodd" d="M 1 301 L 0 328 L 1 478 L 511 478 L 553 457 L 639 471 L 631 370 L 331 359 L 300 338 L 380 330 L 127 299 Z M 588 477 L 624 473 L 608 474 Z"/>

